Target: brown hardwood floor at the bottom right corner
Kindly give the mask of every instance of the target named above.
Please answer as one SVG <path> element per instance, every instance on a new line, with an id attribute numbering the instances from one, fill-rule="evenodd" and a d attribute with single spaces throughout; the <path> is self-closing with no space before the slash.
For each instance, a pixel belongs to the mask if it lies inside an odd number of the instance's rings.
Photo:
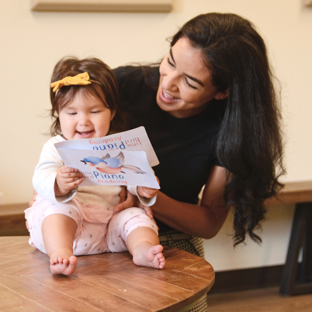
<path id="1" fill-rule="evenodd" d="M 279 287 L 208 295 L 208 312 L 311 312 L 312 294 L 284 297 Z"/>

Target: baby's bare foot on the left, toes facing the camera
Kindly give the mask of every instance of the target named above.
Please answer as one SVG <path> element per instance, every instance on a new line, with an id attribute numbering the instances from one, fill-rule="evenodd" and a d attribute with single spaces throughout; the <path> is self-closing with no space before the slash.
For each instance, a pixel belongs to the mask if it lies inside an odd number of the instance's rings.
<path id="1" fill-rule="evenodd" d="M 70 250 L 58 249 L 51 253 L 50 270 L 53 274 L 71 275 L 75 272 L 77 258 Z"/>

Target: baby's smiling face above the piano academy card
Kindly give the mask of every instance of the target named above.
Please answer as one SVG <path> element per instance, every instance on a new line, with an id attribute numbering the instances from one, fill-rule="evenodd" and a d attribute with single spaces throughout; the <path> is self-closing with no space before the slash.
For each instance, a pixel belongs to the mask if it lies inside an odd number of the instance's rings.
<path id="1" fill-rule="evenodd" d="M 80 92 L 59 112 L 61 131 L 67 140 L 103 137 L 113 117 L 101 99 Z"/>

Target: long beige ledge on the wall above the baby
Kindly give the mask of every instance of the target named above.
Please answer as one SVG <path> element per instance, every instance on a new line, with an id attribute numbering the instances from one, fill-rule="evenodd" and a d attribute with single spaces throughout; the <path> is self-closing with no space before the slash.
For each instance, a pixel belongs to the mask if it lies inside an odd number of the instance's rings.
<path id="1" fill-rule="evenodd" d="M 41 12 L 170 12 L 173 0 L 31 0 Z"/>

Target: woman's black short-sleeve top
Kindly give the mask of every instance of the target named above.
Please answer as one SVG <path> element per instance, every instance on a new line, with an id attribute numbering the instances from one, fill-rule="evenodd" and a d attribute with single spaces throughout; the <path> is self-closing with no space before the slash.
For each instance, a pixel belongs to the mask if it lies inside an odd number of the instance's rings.
<path id="1" fill-rule="evenodd" d="M 120 106 L 129 127 L 144 126 L 159 160 L 153 167 L 160 190 L 182 202 L 197 204 L 216 160 L 216 134 L 224 115 L 224 101 L 214 100 L 202 113 L 176 118 L 156 102 L 159 67 L 125 66 L 114 69 Z M 187 218 L 187 216 L 185 216 Z M 159 233 L 172 228 L 157 220 Z"/>

